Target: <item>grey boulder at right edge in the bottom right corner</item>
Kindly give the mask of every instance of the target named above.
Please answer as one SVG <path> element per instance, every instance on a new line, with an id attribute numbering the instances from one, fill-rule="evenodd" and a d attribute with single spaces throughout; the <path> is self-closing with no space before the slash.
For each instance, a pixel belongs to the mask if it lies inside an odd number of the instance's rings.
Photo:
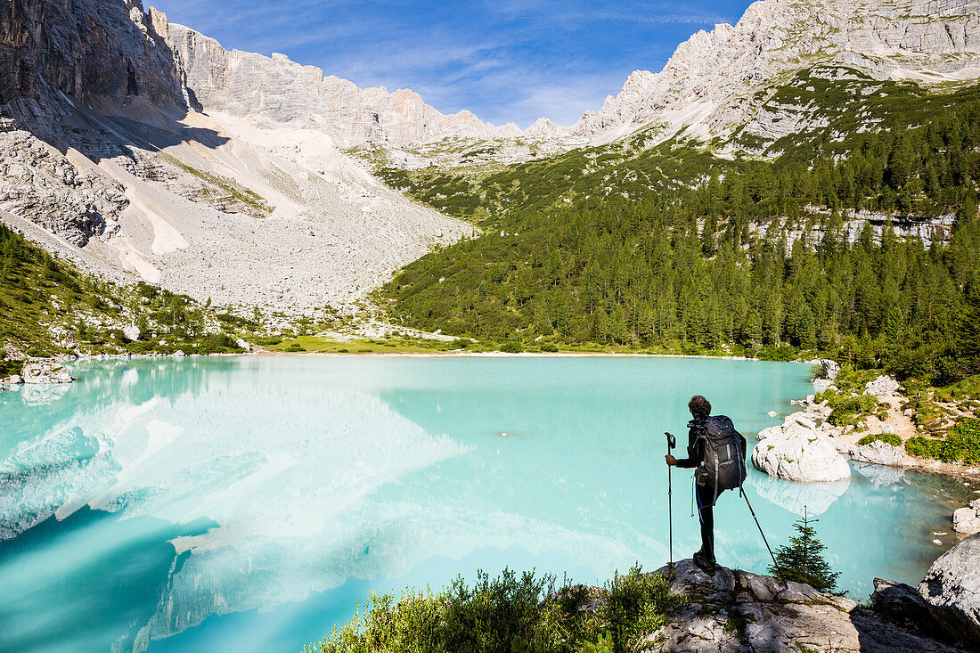
<path id="1" fill-rule="evenodd" d="M 932 564 L 919 593 L 933 617 L 953 636 L 980 650 L 980 533 L 970 535 Z"/>

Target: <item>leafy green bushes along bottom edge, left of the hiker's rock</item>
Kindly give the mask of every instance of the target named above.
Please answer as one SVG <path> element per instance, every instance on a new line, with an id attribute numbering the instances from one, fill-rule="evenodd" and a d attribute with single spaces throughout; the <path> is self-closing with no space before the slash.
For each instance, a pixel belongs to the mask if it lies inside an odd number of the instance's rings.
<path id="1" fill-rule="evenodd" d="M 594 614 L 581 610 L 596 598 Z M 433 593 L 406 590 L 370 596 L 354 619 L 319 642 L 320 653 L 622 653 L 639 650 L 642 635 L 658 628 L 681 603 L 662 577 L 635 567 L 605 588 L 571 585 L 533 572 L 497 578 L 477 572 L 469 586 L 457 578 Z"/>

